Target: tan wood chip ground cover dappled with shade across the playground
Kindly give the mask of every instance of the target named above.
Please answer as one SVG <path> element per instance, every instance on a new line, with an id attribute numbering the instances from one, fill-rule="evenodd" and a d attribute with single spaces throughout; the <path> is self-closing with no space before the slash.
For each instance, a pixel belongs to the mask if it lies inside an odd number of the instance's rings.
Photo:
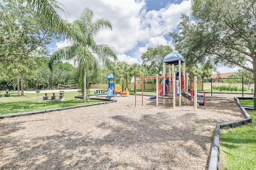
<path id="1" fill-rule="evenodd" d="M 243 119 L 234 96 L 156 107 L 144 96 L 0 120 L 0 169 L 205 170 L 216 123 Z M 100 96 L 106 98 L 106 96 Z M 168 102 L 167 102 L 168 103 Z"/>

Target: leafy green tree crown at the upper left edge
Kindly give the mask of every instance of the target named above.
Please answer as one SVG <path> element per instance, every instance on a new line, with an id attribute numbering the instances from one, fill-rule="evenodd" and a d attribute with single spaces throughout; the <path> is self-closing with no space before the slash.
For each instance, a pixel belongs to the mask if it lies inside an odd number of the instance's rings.
<path id="1" fill-rule="evenodd" d="M 16 2 L 16 1 L 14 1 Z M 33 11 L 28 10 L 21 3 L 6 5 L 9 13 L 6 15 L 12 21 L 12 31 L 0 23 L 0 61 L 15 62 L 18 57 L 28 55 L 42 55 L 46 45 L 54 41 L 53 30 L 48 29 L 41 18 L 35 18 Z"/>

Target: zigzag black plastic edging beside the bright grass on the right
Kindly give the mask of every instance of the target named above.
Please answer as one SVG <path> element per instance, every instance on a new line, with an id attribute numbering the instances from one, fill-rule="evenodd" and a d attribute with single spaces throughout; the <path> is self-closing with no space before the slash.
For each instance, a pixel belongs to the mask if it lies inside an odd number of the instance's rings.
<path id="1" fill-rule="evenodd" d="M 210 154 L 210 161 L 208 170 L 219 170 L 220 167 L 220 129 L 224 127 L 238 127 L 240 125 L 246 125 L 248 123 L 252 123 L 252 118 L 245 110 L 244 106 L 241 106 L 240 100 L 251 100 L 252 98 L 236 98 L 234 97 L 234 100 L 237 102 L 237 105 L 240 107 L 242 112 L 244 113 L 246 119 L 233 121 L 233 122 L 227 122 L 222 124 L 216 124 L 215 133 L 214 133 L 214 139 L 213 139 L 213 147 Z"/>

